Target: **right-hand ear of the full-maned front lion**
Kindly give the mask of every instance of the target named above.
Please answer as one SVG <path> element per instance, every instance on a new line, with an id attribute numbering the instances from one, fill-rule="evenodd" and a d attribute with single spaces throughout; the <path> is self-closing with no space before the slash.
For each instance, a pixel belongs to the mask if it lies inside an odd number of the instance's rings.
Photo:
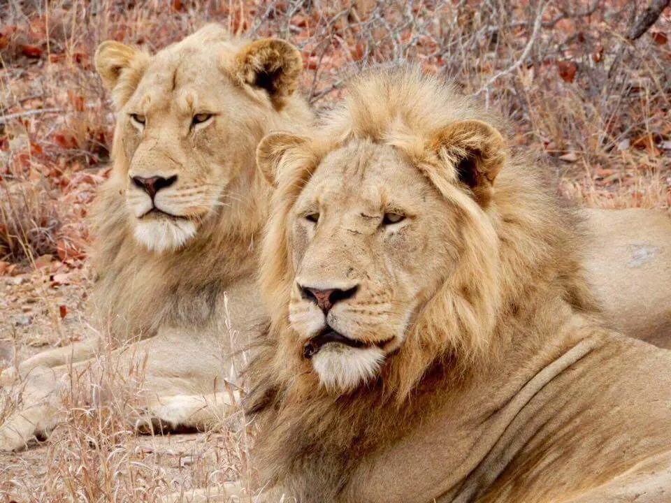
<path id="1" fill-rule="evenodd" d="M 479 120 L 455 122 L 433 136 L 431 150 L 454 167 L 454 178 L 472 191 L 480 205 L 489 202 L 506 159 L 505 140 L 496 128 Z"/>

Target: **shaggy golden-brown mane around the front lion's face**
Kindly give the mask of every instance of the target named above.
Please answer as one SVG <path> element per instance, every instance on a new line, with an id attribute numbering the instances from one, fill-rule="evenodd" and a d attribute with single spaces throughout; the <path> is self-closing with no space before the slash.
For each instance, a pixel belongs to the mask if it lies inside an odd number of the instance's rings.
<path id="1" fill-rule="evenodd" d="M 503 168 L 482 205 L 457 182 L 458 173 L 449 173 L 445 166 L 454 159 L 435 148 L 435 138 L 466 119 L 500 124 L 438 78 L 417 70 L 368 73 L 277 167 L 261 264 L 272 326 L 250 367 L 249 406 L 262 425 L 257 460 L 264 477 L 299 501 L 347 500 L 342 491 L 361 456 L 394 442 L 433 404 L 445 403 L 447 390 L 484 372 L 513 333 L 540 344 L 553 309 L 598 312 L 579 265 L 577 221 L 533 161 L 497 152 Z M 353 139 L 394 145 L 435 184 L 459 216 L 461 256 L 377 381 L 333 395 L 319 386 L 287 321 L 296 272 L 288 222 L 319 161 Z"/>

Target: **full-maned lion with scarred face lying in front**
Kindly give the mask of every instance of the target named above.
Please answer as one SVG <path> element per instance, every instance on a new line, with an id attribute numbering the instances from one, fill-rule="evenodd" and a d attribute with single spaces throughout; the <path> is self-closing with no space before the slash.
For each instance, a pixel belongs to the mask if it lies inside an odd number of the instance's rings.
<path id="1" fill-rule="evenodd" d="M 368 73 L 257 158 L 268 501 L 668 500 L 671 353 L 607 328 L 582 223 L 496 117 Z"/>

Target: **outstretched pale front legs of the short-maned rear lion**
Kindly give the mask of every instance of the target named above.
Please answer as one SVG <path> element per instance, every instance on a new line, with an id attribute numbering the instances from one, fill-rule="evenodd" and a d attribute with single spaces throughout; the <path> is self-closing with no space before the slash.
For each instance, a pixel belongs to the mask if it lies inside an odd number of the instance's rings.
<path id="1" fill-rule="evenodd" d="M 157 425 L 159 432 L 219 425 L 239 395 L 224 378 L 226 354 L 203 351 L 208 347 L 212 341 L 203 336 L 166 333 L 96 359 L 29 372 L 24 393 L 13 400 L 14 411 L 0 425 L 0 449 L 22 449 L 30 439 L 48 433 L 57 423 L 68 386 L 85 386 L 93 402 L 124 389 L 138 393 L 146 414 L 129 421 Z"/>

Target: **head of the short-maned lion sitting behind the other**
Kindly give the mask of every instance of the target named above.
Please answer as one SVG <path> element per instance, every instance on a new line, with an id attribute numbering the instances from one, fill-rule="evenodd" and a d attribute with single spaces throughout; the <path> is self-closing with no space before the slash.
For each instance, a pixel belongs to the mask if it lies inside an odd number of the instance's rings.
<path id="1" fill-rule="evenodd" d="M 104 42 L 96 68 L 117 109 L 114 176 L 135 239 L 173 251 L 217 224 L 249 226 L 249 209 L 265 207 L 253 188 L 257 143 L 285 109 L 308 115 L 291 100 L 300 53 L 210 25 L 154 56 Z"/>

